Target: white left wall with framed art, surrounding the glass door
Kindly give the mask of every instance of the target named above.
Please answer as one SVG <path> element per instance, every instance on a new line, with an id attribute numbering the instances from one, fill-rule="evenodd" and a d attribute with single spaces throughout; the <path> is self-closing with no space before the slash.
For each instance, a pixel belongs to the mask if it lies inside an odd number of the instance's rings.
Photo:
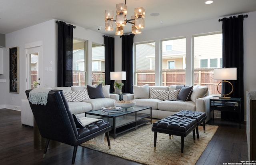
<path id="1" fill-rule="evenodd" d="M 24 45 L 27 43 L 42 41 L 43 52 L 43 66 L 48 66 L 50 61 L 56 61 L 56 32 L 54 20 L 43 22 L 16 32 L 6 34 L 6 48 L 4 48 L 4 74 L 1 79 L 6 79 L 5 83 L 0 83 L 0 107 L 7 107 L 10 109 L 20 109 L 21 99 L 26 98 L 26 55 L 24 54 Z M 20 47 L 20 91 L 19 93 L 9 93 L 9 48 Z M 54 68 L 54 65 L 53 65 Z M 45 84 L 54 84 L 53 79 L 56 77 L 55 70 L 52 72 L 43 72 L 43 81 Z M 49 78 L 49 79 L 48 79 Z"/>

